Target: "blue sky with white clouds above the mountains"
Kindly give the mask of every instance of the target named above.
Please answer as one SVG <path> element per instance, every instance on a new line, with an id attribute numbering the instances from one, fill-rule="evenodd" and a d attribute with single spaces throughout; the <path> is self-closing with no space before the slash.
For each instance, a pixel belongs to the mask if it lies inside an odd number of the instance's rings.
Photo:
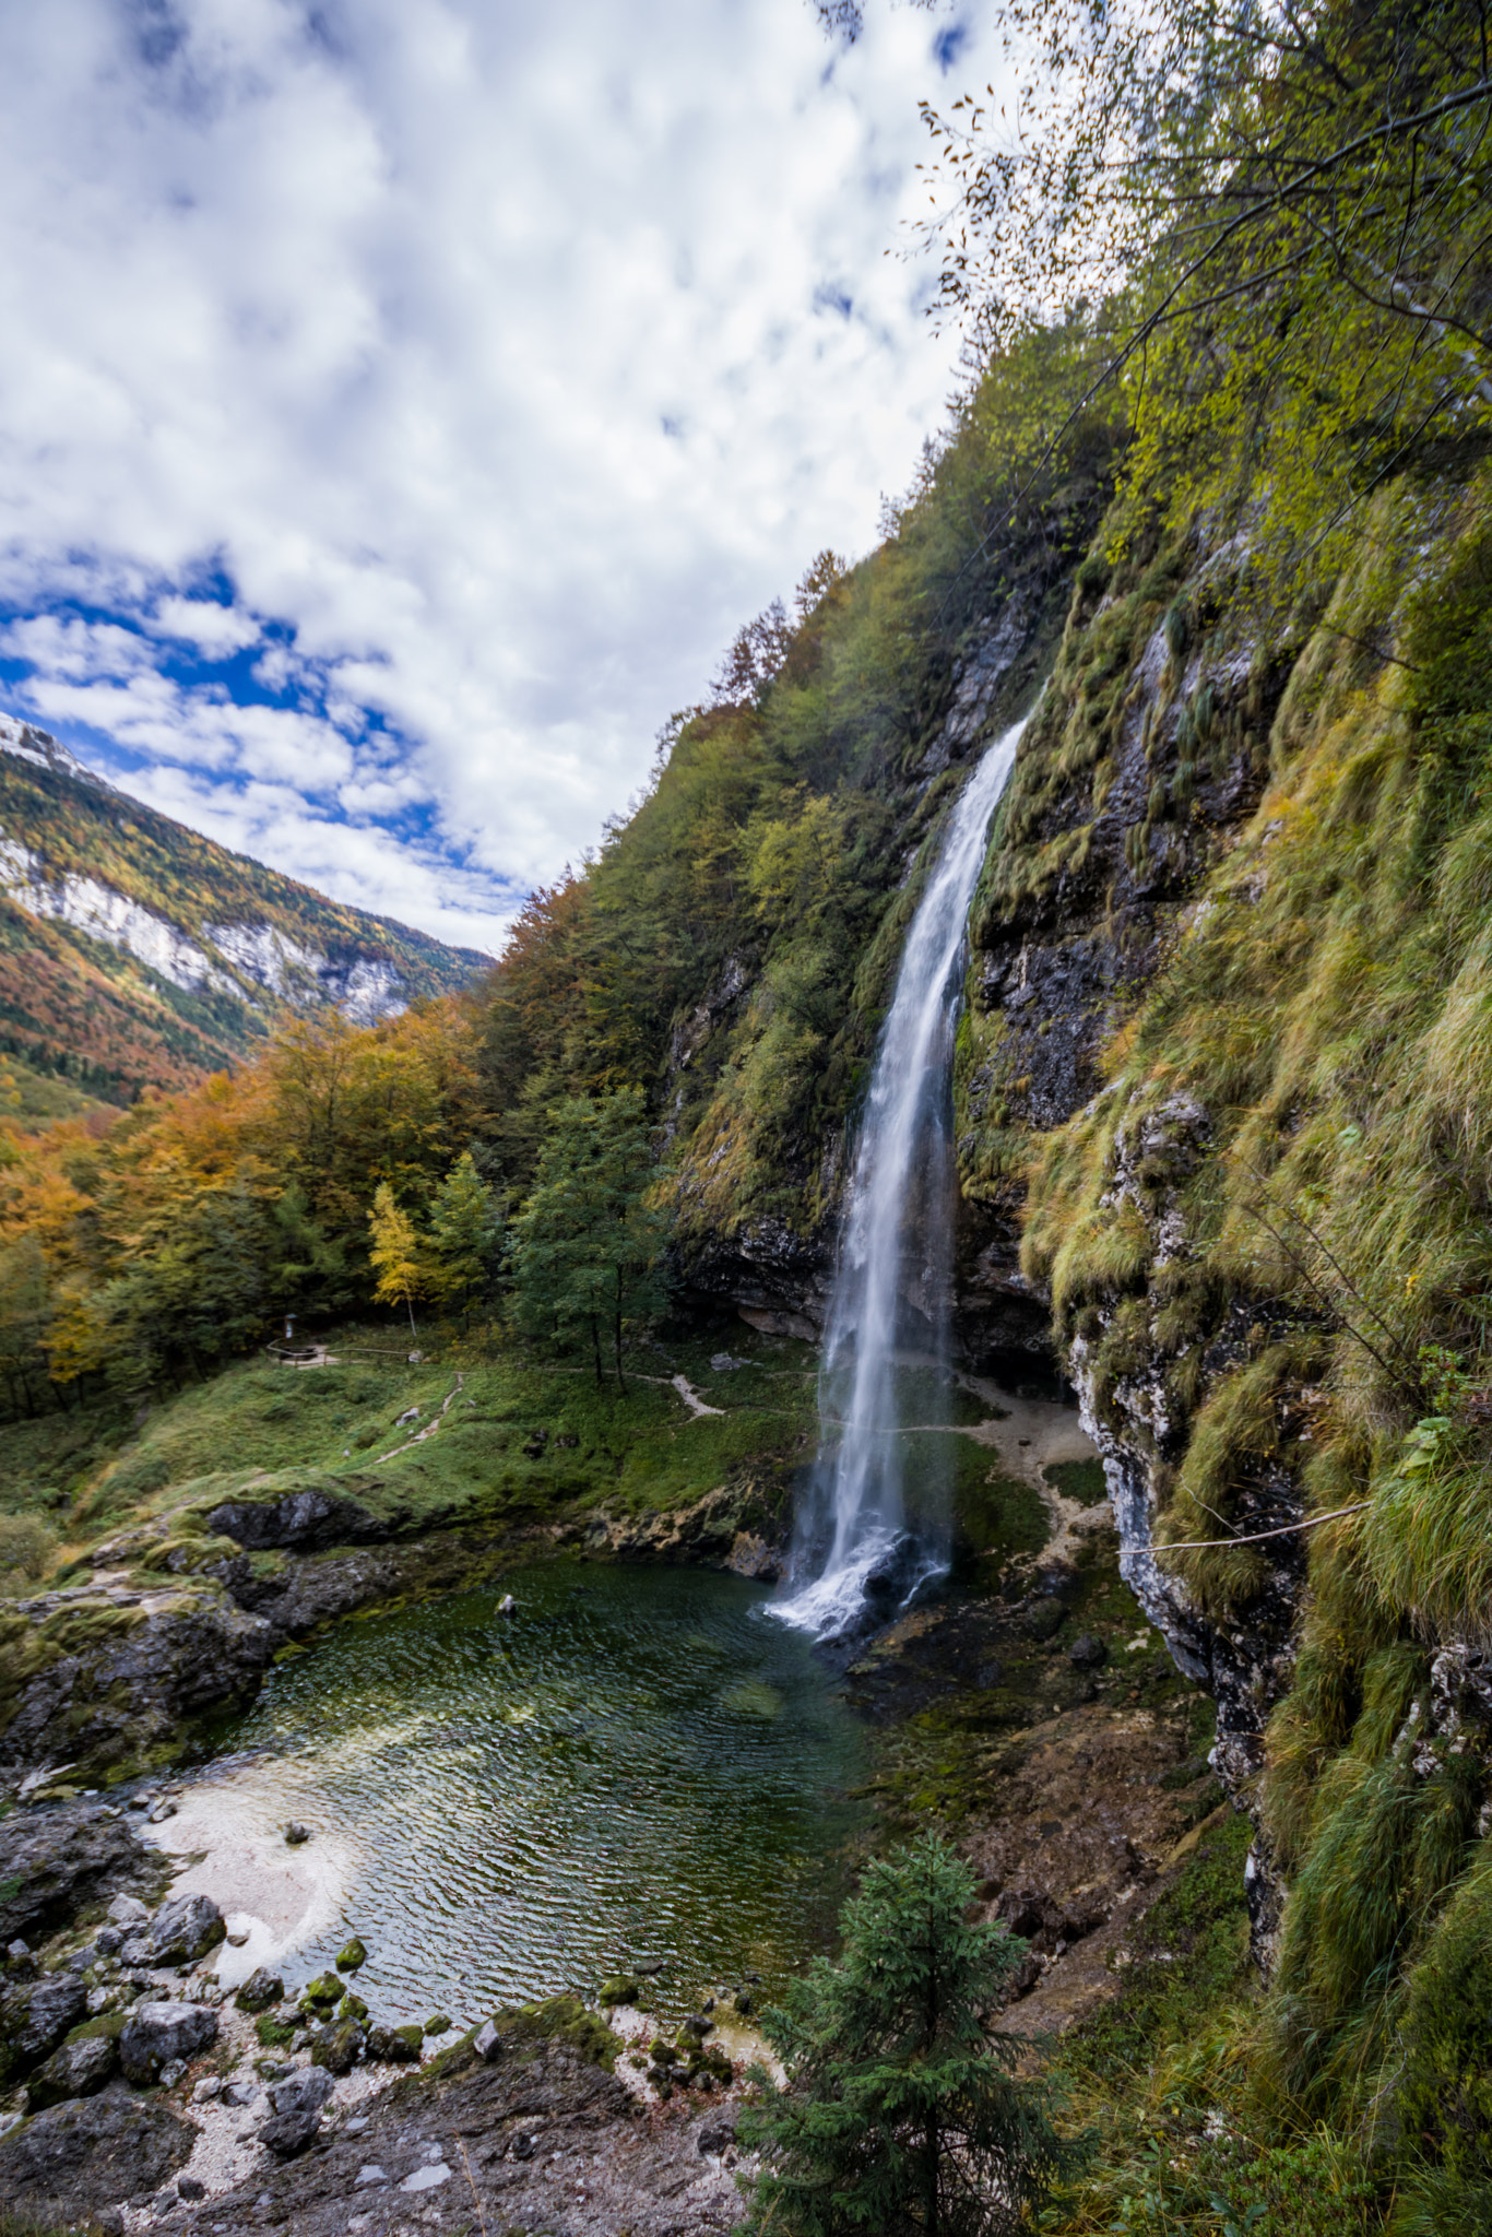
<path id="1" fill-rule="evenodd" d="M 962 0 L 0 0 L 0 705 L 494 948 L 910 481 L 917 98 L 993 69 Z"/>

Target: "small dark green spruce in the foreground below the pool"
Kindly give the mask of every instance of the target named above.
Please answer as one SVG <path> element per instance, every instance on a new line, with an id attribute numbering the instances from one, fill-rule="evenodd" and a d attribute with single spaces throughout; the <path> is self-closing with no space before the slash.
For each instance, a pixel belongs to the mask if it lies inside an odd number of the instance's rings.
<path id="1" fill-rule="evenodd" d="M 752 2233 L 995 2237 L 1029 2228 L 1074 2159 L 1020 2042 L 989 2020 L 1024 1944 L 969 1926 L 973 1872 L 924 1834 L 868 1866 L 819 1957 L 765 2031 L 787 2087 L 749 2114 L 763 2152 Z"/>

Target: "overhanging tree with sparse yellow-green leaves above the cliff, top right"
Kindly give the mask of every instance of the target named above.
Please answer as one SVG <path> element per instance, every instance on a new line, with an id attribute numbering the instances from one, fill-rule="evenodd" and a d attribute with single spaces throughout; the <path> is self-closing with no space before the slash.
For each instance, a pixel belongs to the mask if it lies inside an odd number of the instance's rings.
<path id="1" fill-rule="evenodd" d="M 1427 452 L 1485 443 L 1479 0 L 998 16 L 1011 92 L 924 107 L 926 239 L 980 356 L 1083 304 L 1069 409 L 1118 387 L 1132 485 L 1165 488 L 1177 519 L 1264 492 L 1277 555 L 1324 544 Z"/>

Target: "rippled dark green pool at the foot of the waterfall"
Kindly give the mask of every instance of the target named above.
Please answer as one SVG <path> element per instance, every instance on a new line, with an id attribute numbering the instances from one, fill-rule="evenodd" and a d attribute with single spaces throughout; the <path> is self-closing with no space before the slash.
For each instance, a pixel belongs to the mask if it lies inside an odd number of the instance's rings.
<path id="1" fill-rule="evenodd" d="M 275 1669 L 230 1745 L 268 1752 L 251 1776 L 271 1816 L 356 1854 L 338 1926 L 286 1982 L 356 1928 L 376 2018 L 470 2022 L 642 1957 L 667 1960 L 662 2011 L 745 1973 L 781 1989 L 830 1939 L 866 1752 L 763 1599 L 740 1577 L 555 1561 Z"/>

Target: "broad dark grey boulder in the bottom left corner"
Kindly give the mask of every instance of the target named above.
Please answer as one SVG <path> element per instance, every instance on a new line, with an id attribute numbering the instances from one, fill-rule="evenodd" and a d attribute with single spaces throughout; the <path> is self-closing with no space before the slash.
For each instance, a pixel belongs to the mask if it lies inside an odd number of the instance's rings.
<path id="1" fill-rule="evenodd" d="M 161 2103 L 116 2092 L 69 2098 L 0 2139 L 0 2203 L 69 2221 L 112 2210 L 170 2181 L 195 2139 Z"/>

